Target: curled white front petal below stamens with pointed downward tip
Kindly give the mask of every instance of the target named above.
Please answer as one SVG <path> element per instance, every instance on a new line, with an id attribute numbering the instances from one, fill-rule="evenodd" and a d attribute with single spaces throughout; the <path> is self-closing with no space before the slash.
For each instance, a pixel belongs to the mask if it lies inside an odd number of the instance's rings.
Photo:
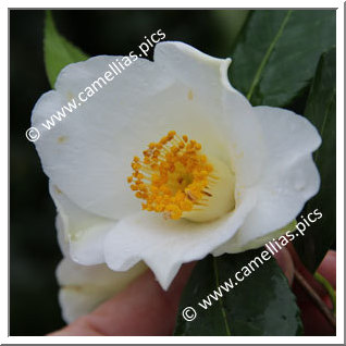
<path id="1" fill-rule="evenodd" d="M 106 262 L 121 271 L 144 260 L 168 289 L 182 263 L 203 258 L 235 234 L 254 207 L 250 193 L 243 198 L 232 213 L 213 222 L 164 220 L 148 212 L 125 218 L 107 236 Z"/>

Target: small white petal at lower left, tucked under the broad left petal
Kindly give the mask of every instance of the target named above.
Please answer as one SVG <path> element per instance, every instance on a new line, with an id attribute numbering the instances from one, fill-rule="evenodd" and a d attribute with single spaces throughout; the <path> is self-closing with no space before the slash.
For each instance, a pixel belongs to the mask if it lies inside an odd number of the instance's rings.
<path id="1" fill-rule="evenodd" d="M 103 263 L 104 237 L 116 221 L 81 209 L 52 182 L 49 189 L 58 209 L 55 225 L 63 254 L 69 250 L 71 258 L 84 265 Z"/>

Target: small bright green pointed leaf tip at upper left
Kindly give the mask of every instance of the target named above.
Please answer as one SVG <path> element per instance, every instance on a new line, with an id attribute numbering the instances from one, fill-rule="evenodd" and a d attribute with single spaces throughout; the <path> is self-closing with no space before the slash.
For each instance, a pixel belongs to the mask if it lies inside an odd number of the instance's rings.
<path id="1" fill-rule="evenodd" d="M 44 51 L 46 72 L 52 88 L 57 76 L 64 66 L 89 58 L 58 33 L 51 11 L 46 12 Z"/>

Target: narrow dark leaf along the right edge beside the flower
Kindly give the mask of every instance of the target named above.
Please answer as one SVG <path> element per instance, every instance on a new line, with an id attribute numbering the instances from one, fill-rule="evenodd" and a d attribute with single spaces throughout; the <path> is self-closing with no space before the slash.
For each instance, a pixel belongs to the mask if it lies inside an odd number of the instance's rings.
<path id="1" fill-rule="evenodd" d="M 314 152 L 321 175 L 319 194 L 307 203 L 304 215 L 319 209 L 323 217 L 310 226 L 294 246 L 301 261 L 311 271 L 321 263 L 336 237 L 336 59 L 335 48 L 319 62 L 307 101 L 305 115 L 317 126 L 322 145 Z"/>

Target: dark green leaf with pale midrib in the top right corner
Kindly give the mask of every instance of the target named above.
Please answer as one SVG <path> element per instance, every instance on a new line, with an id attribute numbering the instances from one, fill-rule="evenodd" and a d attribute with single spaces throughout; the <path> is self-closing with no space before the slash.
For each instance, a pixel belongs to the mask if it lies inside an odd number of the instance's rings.
<path id="1" fill-rule="evenodd" d="M 288 106 L 334 45 L 335 11 L 254 11 L 232 54 L 231 82 L 254 106 Z"/>

